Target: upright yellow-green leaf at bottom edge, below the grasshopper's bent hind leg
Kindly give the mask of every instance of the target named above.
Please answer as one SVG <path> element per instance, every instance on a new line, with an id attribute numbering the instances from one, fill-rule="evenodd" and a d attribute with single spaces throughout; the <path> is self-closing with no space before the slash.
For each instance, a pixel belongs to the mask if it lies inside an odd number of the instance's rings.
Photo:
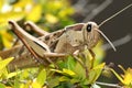
<path id="1" fill-rule="evenodd" d="M 36 81 L 42 87 L 44 85 L 45 80 L 46 80 L 46 70 L 42 69 L 41 73 L 38 74 L 37 78 L 36 78 Z"/>

